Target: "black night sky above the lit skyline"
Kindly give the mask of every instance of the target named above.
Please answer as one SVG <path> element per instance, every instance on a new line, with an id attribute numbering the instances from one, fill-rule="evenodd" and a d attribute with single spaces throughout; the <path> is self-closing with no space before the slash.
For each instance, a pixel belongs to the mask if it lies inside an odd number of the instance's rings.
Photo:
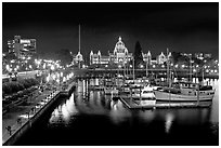
<path id="1" fill-rule="evenodd" d="M 219 3 L 151 2 L 3 2 L 3 51 L 14 35 L 36 38 L 37 52 L 60 49 L 78 51 L 81 24 L 81 53 L 113 52 L 118 37 L 129 52 L 140 41 L 143 52 L 205 52 L 219 56 Z"/>

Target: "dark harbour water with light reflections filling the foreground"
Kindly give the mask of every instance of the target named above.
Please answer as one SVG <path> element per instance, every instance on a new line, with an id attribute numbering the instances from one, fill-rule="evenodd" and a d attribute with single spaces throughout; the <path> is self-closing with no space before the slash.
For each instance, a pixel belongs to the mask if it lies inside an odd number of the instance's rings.
<path id="1" fill-rule="evenodd" d="M 26 146 L 211 146 L 219 145 L 219 80 L 210 108 L 130 110 L 103 91 L 98 80 L 79 80 L 15 145 Z"/>

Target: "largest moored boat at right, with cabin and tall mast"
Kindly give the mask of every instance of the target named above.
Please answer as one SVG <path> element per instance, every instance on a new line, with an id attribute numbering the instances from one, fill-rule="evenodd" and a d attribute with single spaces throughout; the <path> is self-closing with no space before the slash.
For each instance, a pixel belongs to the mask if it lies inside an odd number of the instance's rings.
<path id="1" fill-rule="evenodd" d="M 168 53 L 168 49 L 167 49 Z M 214 91 L 212 86 L 204 86 L 199 83 L 193 82 L 179 82 L 171 83 L 170 70 L 168 64 L 168 54 L 167 54 L 167 70 L 169 71 L 168 82 L 169 88 L 162 88 L 162 91 L 155 91 L 157 100 L 165 102 L 203 102 L 203 100 L 212 100 L 214 96 Z"/>

